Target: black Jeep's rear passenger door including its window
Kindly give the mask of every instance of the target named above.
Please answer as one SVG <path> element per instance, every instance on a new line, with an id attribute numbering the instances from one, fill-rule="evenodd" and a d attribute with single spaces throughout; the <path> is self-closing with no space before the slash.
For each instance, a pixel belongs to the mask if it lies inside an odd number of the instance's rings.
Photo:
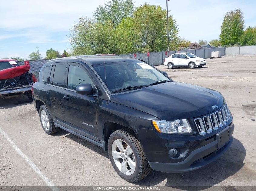
<path id="1" fill-rule="evenodd" d="M 59 121 L 60 125 L 65 126 L 64 111 L 62 107 L 62 91 L 66 87 L 65 74 L 67 62 L 54 63 L 51 67 L 50 79 L 48 84 L 44 87 L 48 103 L 47 109 L 52 114 L 54 123 Z"/>

